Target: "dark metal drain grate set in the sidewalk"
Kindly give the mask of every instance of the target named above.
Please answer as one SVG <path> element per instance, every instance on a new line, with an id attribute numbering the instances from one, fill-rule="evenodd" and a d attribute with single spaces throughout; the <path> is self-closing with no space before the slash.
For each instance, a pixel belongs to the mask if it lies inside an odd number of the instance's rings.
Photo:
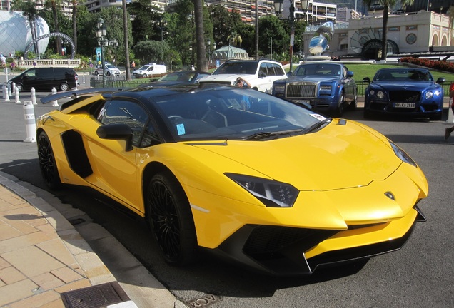
<path id="1" fill-rule="evenodd" d="M 61 293 L 61 299 L 66 308 L 101 308 L 126 302 L 129 297 L 118 282 L 109 282 Z"/>

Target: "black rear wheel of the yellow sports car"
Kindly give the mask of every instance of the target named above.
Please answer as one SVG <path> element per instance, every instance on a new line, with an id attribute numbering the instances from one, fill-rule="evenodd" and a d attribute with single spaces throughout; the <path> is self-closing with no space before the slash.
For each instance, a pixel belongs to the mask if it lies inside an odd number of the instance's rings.
<path id="1" fill-rule="evenodd" d="M 61 187 L 59 170 L 55 163 L 54 150 L 52 150 L 51 141 L 46 133 L 41 132 L 38 136 L 38 161 L 39 169 L 44 183 L 52 190 Z"/>

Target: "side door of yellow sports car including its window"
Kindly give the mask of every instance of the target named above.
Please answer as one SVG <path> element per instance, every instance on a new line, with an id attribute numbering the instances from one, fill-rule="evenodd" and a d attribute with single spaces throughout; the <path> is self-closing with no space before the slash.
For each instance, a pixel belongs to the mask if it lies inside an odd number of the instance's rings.
<path id="1" fill-rule="evenodd" d="M 138 101 L 114 99 L 107 102 L 96 118 L 102 125 L 126 123 L 133 133 L 133 150 L 126 150 L 125 140 L 110 140 L 94 137 L 89 142 L 92 168 L 96 177 L 91 183 L 106 193 L 141 210 L 141 180 L 137 162 L 137 148 L 150 145 L 153 130 L 146 108 Z M 146 139 L 146 140 L 144 140 Z"/>

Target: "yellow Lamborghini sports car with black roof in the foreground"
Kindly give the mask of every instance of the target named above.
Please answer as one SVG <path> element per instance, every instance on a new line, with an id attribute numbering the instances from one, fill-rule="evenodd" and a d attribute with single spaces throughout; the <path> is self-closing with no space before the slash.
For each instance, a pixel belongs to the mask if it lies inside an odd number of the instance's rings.
<path id="1" fill-rule="evenodd" d="M 38 119 L 46 184 L 89 186 L 144 217 L 173 265 L 203 247 L 311 274 L 398 250 L 424 220 L 423 172 L 363 124 L 230 86 L 77 94 Z"/>

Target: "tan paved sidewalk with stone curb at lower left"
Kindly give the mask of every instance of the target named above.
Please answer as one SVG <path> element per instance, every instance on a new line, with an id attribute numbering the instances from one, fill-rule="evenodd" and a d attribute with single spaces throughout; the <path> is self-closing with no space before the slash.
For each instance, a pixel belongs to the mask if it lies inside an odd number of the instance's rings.
<path id="1" fill-rule="evenodd" d="M 108 232 L 85 225 L 84 237 L 109 241 L 120 254 L 117 281 L 67 219 L 84 212 L 54 197 L 56 209 L 33 190 L 53 197 L 0 172 L 0 307 L 186 307 Z"/>

